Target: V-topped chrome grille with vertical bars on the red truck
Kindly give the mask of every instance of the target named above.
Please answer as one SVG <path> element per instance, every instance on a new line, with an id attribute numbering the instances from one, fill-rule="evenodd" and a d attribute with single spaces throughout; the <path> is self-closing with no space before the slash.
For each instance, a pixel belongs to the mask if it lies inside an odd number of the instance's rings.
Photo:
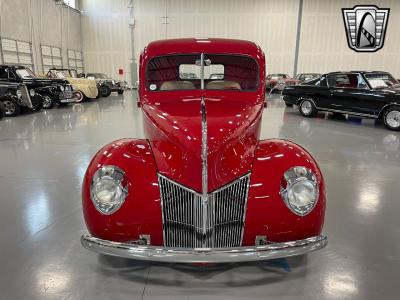
<path id="1" fill-rule="evenodd" d="M 239 247 L 250 174 L 202 196 L 159 175 L 164 245 L 177 248 Z"/>

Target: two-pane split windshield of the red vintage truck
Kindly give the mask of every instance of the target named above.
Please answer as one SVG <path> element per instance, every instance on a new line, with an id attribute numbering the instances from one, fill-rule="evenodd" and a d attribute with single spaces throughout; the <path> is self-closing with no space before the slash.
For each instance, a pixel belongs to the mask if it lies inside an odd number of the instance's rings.
<path id="1" fill-rule="evenodd" d="M 203 78 L 202 78 L 203 77 Z M 243 55 L 200 54 L 155 57 L 147 65 L 150 91 L 236 90 L 258 87 L 257 62 Z"/>

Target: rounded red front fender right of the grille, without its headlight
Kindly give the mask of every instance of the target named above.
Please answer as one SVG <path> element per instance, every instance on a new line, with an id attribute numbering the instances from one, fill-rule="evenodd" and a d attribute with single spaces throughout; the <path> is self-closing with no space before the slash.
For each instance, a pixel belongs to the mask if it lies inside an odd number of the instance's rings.
<path id="1" fill-rule="evenodd" d="M 295 215 L 280 196 L 281 179 L 294 166 L 311 169 L 317 177 L 319 199 L 306 216 Z M 247 202 L 243 245 L 254 245 L 256 236 L 268 242 L 287 242 L 317 236 L 325 218 L 325 183 L 311 155 L 285 140 L 261 141 L 255 152 Z"/>

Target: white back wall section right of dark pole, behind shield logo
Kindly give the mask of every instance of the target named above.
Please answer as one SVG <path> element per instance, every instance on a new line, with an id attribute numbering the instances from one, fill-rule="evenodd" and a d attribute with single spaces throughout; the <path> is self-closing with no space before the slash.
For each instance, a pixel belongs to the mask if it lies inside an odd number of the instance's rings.
<path id="1" fill-rule="evenodd" d="M 390 8 L 383 49 L 357 53 L 347 45 L 342 8 L 360 1 L 304 0 L 298 72 L 385 70 L 400 76 L 400 1 L 367 1 Z"/>

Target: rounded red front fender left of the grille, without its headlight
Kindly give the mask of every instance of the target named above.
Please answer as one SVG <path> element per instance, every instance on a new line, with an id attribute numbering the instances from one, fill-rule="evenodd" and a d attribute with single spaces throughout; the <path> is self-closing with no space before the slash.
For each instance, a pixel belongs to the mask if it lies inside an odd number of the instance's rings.
<path id="1" fill-rule="evenodd" d="M 103 215 L 90 198 L 94 173 L 104 165 L 125 171 L 128 196 L 115 213 Z M 114 242 L 150 235 L 152 245 L 162 245 L 162 216 L 156 164 L 146 140 L 123 139 L 103 147 L 92 159 L 82 186 L 82 205 L 89 232 Z"/>

